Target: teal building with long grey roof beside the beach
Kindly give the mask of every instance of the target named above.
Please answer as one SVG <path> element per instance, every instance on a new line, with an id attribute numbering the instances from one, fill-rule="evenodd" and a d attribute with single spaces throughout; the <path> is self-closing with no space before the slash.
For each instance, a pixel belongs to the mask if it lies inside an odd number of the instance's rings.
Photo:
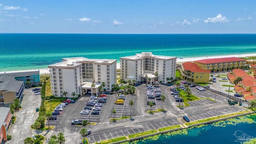
<path id="1" fill-rule="evenodd" d="M 1 76 L 12 76 L 15 80 L 26 82 L 30 81 L 31 85 L 38 86 L 40 84 L 40 71 L 39 70 L 24 70 L 22 72 L 1 72 Z"/>

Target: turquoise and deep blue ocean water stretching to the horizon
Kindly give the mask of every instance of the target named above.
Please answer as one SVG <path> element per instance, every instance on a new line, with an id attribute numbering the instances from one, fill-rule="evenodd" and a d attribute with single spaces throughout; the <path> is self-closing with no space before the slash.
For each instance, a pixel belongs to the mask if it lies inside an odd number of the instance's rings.
<path id="1" fill-rule="evenodd" d="M 47 68 L 62 58 L 178 58 L 256 53 L 256 34 L 0 34 L 0 71 Z"/>

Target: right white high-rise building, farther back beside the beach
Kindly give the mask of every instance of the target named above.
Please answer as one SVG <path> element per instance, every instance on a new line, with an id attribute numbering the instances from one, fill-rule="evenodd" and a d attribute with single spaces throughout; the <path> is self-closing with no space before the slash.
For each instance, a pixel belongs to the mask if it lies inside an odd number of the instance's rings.
<path id="1" fill-rule="evenodd" d="M 153 55 L 152 52 L 121 57 L 121 78 L 148 84 L 167 83 L 167 78 L 175 78 L 176 59 L 177 57 Z"/>

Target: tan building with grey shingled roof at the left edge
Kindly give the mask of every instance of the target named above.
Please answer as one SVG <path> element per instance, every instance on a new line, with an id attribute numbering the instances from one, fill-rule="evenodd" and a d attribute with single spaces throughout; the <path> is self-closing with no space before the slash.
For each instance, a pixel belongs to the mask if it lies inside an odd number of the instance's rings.
<path id="1" fill-rule="evenodd" d="M 22 98 L 24 91 L 24 83 L 22 81 L 15 80 L 12 76 L 0 77 L 0 107 L 9 107 L 14 103 L 15 98 Z"/>

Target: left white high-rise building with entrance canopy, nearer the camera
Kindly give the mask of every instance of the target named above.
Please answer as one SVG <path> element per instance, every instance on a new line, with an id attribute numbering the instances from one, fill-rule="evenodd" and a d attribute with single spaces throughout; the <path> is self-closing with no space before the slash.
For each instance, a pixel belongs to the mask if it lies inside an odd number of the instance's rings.
<path id="1" fill-rule="evenodd" d="M 100 94 L 102 89 L 111 91 L 116 84 L 116 60 L 88 59 L 84 57 L 63 58 L 63 62 L 48 66 L 51 88 L 54 96 L 67 97 L 83 95 L 92 90 L 92 95 Z M 92 86 L 92 84 L 94 86 Z"/>

